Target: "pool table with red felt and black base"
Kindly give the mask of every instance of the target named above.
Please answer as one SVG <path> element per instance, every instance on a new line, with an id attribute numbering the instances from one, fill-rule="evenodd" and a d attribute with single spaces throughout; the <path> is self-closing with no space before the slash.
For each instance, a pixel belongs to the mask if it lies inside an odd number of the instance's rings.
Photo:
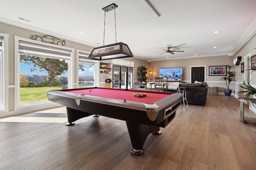
<path id="1" fill-rule="evenodd" d="M 133 93 L 146 93 L 139 98 Z M 90 115 L 102 115 L 126 121 L 133 154 L 141 154 L 149 133 L 160 134 L 180 107 L 182 94 L 171 92 L 125 90 L 118 88 L 76 88 L 50 90 L 48 100 L 67 107 L 68 122 Z"/>

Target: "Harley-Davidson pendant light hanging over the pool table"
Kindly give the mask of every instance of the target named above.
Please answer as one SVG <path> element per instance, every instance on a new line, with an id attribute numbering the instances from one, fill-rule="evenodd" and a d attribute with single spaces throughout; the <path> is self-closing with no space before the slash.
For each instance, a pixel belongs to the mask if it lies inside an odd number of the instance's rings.
<path id="1" fill-rule="evenodd" d="M 106 6 L 105 8 L 102 8 L 104 11 L 104 37 L 103 37 L 103 46 L 96 47 L 92 50 L 90 53 L 88 59 L 94 59 L 94 60 L 111 60 L 111 59 L 120 59 L 120 58 L 126 58 L 126 57 L 134 57 L 132 55 L 132 52 L 130 51 L 130 48 L 125 43 L 114 43 L 110 45 L 104 45 L 105 41 L 105 22 L 106 22 L 106 12 L 110 12 L 111 10 L 114 10 L 115 12 L 115 32 L 116 32 L 116 4 L 111 4 L 109 6 Z"/>

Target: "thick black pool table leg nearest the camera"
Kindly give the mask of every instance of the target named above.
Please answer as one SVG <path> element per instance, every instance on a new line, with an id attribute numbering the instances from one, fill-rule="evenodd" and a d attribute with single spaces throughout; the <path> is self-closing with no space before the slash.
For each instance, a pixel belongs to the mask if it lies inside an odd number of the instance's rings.
<path id="1" fill-rule="evenodd" d="M 133 154 L 142 154 L 144 152 L 143 145 L 148 137 L 148 134 L 154 131 L 160 131 L 160 127 L 153 125 L 143 125 L 126 121 L 132 148 L 130 151 Z"/>

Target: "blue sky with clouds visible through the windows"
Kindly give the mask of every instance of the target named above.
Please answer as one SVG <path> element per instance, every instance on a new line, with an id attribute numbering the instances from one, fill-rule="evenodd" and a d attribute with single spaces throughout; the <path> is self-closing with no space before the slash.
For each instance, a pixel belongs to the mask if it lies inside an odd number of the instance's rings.
<path id="1" fill-rule="evenodd" d="M 94 66 L 90 67 L 88 65 L 84 65 L 85 66 L 85 71 L 84 72 L 79 72 L 78 75 L 86 75 L 86 76 L 93 76 L 94 75 Z M 32 74 L 36 74 L 36 75 L 48 75 L 48 73 L 46 71 L 34 71 L 31 72 L 30 69 L 34 68 L 33 66 L 30 65 L 26 65 L 24 63 L 20 64 L 20 74 L 28 74 L 28 75 L 32 75 Z M 62 76 L 67 77 L 68 73 L 66 72 L 65 74 L 63 74 Z"/>

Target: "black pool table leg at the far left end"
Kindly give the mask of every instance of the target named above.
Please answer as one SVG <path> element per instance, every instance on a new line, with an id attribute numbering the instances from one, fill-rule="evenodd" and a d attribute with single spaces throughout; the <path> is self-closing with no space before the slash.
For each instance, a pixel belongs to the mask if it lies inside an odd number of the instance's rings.
<path id="1" fill-rule="evenodd" d="M 68 122 L 66 123 L 66 125 L 72 126 L 75 124 L 74 121 L 81 119 L 83 117 L 88 117 L 92 114 L 67 107 L 67 115 L 68 115 Z"/>

